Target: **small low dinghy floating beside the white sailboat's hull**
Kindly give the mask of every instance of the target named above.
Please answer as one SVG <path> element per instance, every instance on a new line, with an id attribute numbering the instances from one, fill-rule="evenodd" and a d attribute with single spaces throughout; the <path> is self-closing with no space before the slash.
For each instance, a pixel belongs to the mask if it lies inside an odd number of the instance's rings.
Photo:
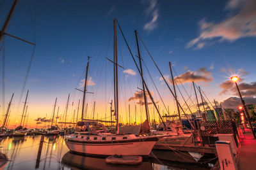
<path id="1" fill-rule="evenodd" d="M 137 165 L 142 162 L 142 157 L 140 156 L 122 156 L 122 155 L 112 155 L 106 158 L 108 164 L 122 164 L 122 165 Z"/>

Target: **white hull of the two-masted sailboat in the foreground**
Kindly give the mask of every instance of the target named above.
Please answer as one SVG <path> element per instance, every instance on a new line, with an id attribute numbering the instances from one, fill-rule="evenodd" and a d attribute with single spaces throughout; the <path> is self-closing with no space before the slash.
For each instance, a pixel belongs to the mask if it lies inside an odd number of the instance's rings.
<path id="1" fill-rule="evenodd" d="M 157 139 L 131 139 L 116 143 L 83 143 L 65 138 L 68 149 L 85 155 L 143 155 L 148 156 L 156 144 Z"/>

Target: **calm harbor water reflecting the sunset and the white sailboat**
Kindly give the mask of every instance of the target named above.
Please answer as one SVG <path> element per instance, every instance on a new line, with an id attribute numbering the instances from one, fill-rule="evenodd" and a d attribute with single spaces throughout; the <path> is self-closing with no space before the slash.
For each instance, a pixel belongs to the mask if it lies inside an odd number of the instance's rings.
<path id="1" fill-rule="evenodd" d="M 45 136 L 40 161 L 36 157 L 41 136 L 1 138 L 0 150 L 10 161 L 5 169 L 207 169 L 159 159 L 148 159 L 138 166 L 114 166 L 97 157 L 84 157 L 68 152 L 61 136 Z"/>

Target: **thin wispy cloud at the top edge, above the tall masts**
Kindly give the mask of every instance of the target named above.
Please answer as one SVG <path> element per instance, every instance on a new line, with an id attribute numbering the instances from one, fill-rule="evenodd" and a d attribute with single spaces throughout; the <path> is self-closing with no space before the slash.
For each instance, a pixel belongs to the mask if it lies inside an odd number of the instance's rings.
<path id="1" fill-rule="evenodd" d="M 152 15 L 152 20 L 150 20 L 150 22 L 147 22 L 147 24 L 144 25 L 143 29 L 150 32 L 153 29 L 155 29 L 157 26 L 157 19 L 159 17 L 159 13 L 158 13 L 156 0 L 148 0 L 148 1 L 146 1 L 146 3 L 148 4 L 146 14 Z"/>

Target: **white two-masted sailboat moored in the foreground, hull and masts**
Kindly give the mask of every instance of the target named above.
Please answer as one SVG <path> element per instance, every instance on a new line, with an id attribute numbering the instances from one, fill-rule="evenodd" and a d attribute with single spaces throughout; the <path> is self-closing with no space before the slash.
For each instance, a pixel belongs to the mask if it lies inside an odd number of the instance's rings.
<path id="1" fill-rule="evenodd" d="M 117 44 L 116 44 L 116 19 L 114 20 L 114 96 L 115 96 L 115 115 L 116 115 L 116 132 L 92 132 L 86 126 L 86 132 L 75 132 L 65 136 L 65 143 L 71 152 L 80 153 L 84 155 L 142 155 L 148 156 L 155 145 L 155 143 L 163 136 L 142 136 L 134 134 L 120 134 L 119 121 L 118 121 L 118 58 L 117 58 Z M 89 59 L 86 67 L 86 76 L 88 72 Z M 84 81 L 84 97 L 86 93 L 86 79 Z M 144 80 L 143 80 L 144 81 Z M 83 122 L 83 109 L 82 109 L 82 124 Z"/>

